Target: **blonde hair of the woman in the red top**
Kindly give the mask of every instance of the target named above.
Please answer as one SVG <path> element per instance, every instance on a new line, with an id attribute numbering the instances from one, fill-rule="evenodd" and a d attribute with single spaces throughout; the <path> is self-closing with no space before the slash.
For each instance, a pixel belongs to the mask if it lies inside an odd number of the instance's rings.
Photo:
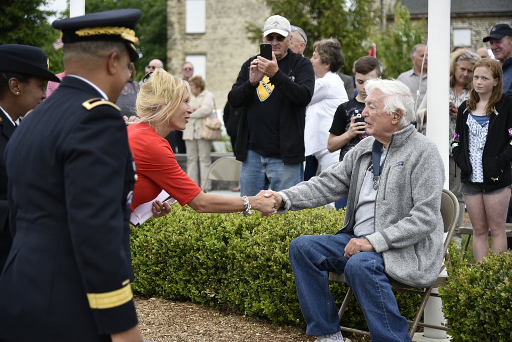
<path id="1" fill-rule="evenodd" d="M 139 122 L 148 124 L 168 121 L 176 114 L 183 96 L 190 96 L 190 86 L 187 81 L 173 76 L 163 69 L 156 69 L 142 83 L 135 108 Z"/>

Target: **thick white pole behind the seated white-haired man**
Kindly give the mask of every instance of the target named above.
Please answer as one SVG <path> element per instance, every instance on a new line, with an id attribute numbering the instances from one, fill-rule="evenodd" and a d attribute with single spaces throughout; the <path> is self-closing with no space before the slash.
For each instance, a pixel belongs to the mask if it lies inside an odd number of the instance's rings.
<path id="1" fill-rule="evenodd" d="M 450 101 L 450 0 L 429 0 L 429 68 L 426 135 L 437 147 L 444 164 L 444 188 L 448 186 L 448 135 Z M 437 289 L 435 290 L 437 292 Z M 441 311 L 441 301 L 431 297 L 425 308 L 424 322 L 439 325 L 445 322 Z M 445 339 L 443 330 L 425 328 L 423 336 Z"/>

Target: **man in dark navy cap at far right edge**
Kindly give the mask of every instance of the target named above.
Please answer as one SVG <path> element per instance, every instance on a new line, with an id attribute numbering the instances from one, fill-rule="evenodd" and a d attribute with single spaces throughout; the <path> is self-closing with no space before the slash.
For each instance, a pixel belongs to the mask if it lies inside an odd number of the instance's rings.
<path id="1" fill-rule="evenodd" d="M 498 59 L 503 69 L 503 94 L 512 93 L 512 28 L 508 24 L 498 24 L 490 29 L 487 37 L 494 58 Z"/>

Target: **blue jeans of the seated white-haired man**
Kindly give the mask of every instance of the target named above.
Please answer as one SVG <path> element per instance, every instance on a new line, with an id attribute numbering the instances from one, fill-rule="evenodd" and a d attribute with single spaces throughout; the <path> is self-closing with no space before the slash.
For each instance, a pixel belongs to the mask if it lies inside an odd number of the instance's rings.
<path id="1" fill-rule="evenodd" d="M 365 315 L 372 340 L 411 341 L 407 319 L 400 315 L 381 253 L 360 252 L 344 257 L 350 234 L 307 235 L 290 244 L 290 264 L 306 333 L 319 336 L 340 330 L 338 309 L 329 290 L 329 272 L 345 273 Z"/>

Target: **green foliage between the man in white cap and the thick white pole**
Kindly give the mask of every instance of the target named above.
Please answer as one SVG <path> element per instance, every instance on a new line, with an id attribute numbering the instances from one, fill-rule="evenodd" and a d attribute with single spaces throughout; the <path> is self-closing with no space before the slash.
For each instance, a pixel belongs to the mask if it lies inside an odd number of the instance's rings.
<path id="1" fill-rule="evenodd" d="M 394 23 L 380 30 L 380 8 L 374 0 L 266 0 L 272 14 L 285 16 L 292 25 L 304 29 L 308 36 L 305 56 L 313 53 L 315 41 L 334 37 L 342 45 L 345 66 L 341 72 L 352 75 L 354 62 L 367 56 L 372 42 L 377 46 L 377 58 L 383 69 L 382 77 L 397 77 L 412 68 L 411 51 L 415 44 L 426 42 L 425 22 L 412 22 L 409 10 L 396 4 L 392 10 Z M 261 23 L 247 23 L 246 30 L 254 42 L 262 39 Z"/>

